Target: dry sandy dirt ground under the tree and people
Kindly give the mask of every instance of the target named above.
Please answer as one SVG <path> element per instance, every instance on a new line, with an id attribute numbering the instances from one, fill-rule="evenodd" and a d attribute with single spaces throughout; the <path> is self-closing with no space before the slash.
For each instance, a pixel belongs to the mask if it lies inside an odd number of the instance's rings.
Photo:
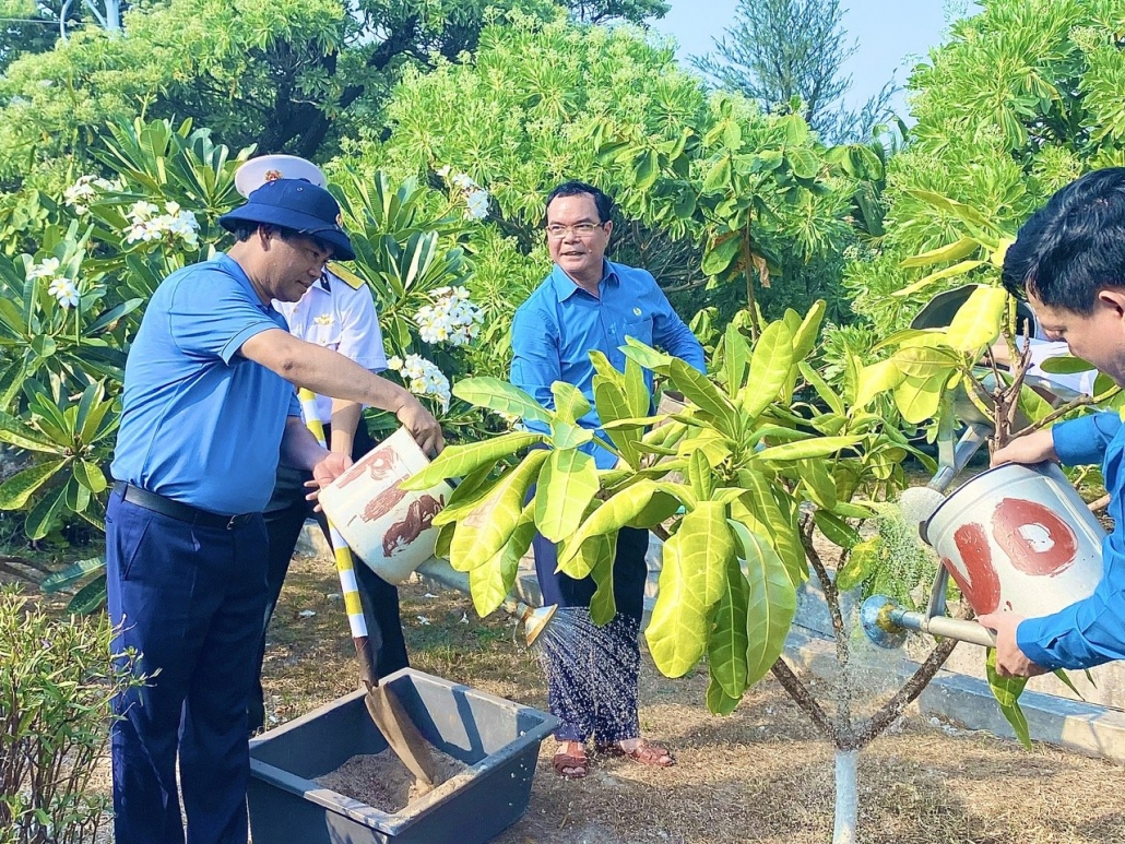
<path id="1" fill-rule="evenodd" d="M 467 596 L 422 584 L 402 595 L 415 668 L 546 708 L 539 664 L 506 617 L 482 621 Z M 272 725 L 356 688 L 342 613 L 331 566 L 295 560 L 267 652 Z M 706 711 L 705 690 L 703 672 L 668 680 L 646 656 L 641 727 L 673 748 L 676 766 L 595 757 L 590 776 L 565 781 L 548 740 L 526 815 L 495 844 L 830 842 L 831 747 L 772 679 L 728 718 Z M 1120 767 L 1044 746 L 1026 753 L 917 715 L 861 754 L 858 779 L 865 844 L 1125 844 Z"/>

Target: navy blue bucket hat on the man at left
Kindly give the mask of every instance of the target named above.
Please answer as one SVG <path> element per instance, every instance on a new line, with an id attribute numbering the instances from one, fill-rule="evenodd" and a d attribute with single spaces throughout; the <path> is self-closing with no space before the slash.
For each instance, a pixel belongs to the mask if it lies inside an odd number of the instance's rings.
<path id="1" fill-rule="evenodd" d="M 340 261 L 356 258 L 346 232 L 340 227 L 340 206 L 324 188 L 304 179 L 276 179 L 253 191 L 244 205 L 218 218 L 233 232 L 238 223 L 264 223 L 291 228 L 330 244 Z"/>

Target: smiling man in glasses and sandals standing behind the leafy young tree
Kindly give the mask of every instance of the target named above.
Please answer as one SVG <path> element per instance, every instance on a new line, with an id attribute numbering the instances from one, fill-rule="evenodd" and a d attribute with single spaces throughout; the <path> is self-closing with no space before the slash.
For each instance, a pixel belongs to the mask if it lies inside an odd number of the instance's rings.
<path id="1" fill-rule="evenodd" d="M 610 197 L 578 181 L 565 182 L 547 197 L 547 248 L 555 267 L 520 306 L 512 323 L 512 384 L 543 406 L 554 406 L 551 384 L 561 380 L 578 387 L 594 407 L 590 352 L 601 351 L 613 366 L 624 369 L 620 347 L 627 336 L 705 370 L 703 348 L 672 309 L 651 273 L 605 260 L 613 231 L 611 213 Z M 651 372 L 646 372 L 646 378 L 651 390 Z M 591 410 L 579 422 L 596 429 L 597 412 Z M 592 448 L 598 468 L 613 466 L 612 454 L 596 445 Z M 557 573 L 557 549 L 542 536 L 536 537 L 532 547 L 543 603 L 590 607 L 593 578 L 579 581 Z M 613 562 L 618 614 L 600 632 L 612 639 L 613 647 L 595 655 L 590 643 L 591 647 L 547 657 L 552 663 L 547 677 L 550 708 L 560 721 L 555 733 L 559 743 L 555 770 L 561 776 L 586 775 L 590 738 L 602 753 L 626 755 L 647 765 L 673 764 L 666 748 L 640 737 L 637 716 L 637 636 L 645 608 L 647 549 L 647 530 L 621 529 Z M 596 675 L 613 688 L 592 688 L 595 659 L 602 663 Z M 620 664 L 606 670 L 606 659 Z"/>

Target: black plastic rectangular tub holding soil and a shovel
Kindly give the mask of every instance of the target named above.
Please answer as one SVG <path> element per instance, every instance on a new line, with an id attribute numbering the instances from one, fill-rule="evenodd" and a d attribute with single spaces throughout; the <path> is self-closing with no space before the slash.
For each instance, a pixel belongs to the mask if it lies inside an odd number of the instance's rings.
<path id="1" fill-rule="evenodd" d="M 413 668 L 384 680 L 422 735 L 471 765 L 388 814 L 313 780 L 387 748 L 354 692 L 250 743 L 253 844 L 484 844 L 528 808 L 539 745 L 554 716 Z"/>

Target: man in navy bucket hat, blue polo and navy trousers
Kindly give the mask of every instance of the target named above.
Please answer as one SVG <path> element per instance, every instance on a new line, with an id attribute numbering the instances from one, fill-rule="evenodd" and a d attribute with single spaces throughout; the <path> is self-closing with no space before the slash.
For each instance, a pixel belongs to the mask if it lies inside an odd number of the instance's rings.
<path id="1" fill-rule="evenodd" d="M 148 682 L 115 701 L 117 844 L 182 844 L 181 794 L 189 842 L 248 839 L 261 511 L 279 461 L 312 470 L 315 486 L 351 464 L 305 428 L 294 385 L 390 411 L 423 449 L 442 446 L 413 395 L 292 336 L 271 305 L 353 257 L 332 195 L 279 179 L 219 222 L 236 242 L 164 279 L 125 368 L 106 572 L 116 653 L 137 652 Z"/>

